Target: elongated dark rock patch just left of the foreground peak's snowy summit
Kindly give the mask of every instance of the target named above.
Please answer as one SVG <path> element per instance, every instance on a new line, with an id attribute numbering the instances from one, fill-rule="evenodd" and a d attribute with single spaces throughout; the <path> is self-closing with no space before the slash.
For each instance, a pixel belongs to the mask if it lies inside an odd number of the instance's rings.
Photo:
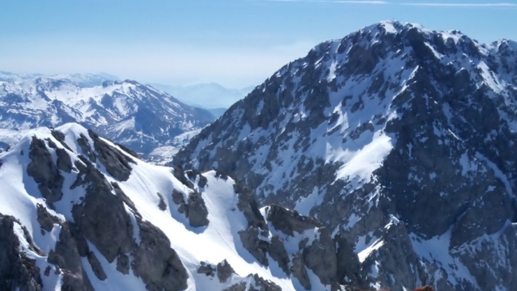
<path id="1" fill-rule="evenodd" d="M 54 202 L 63 197 L 63 176 L 59 174 L 45 142 L 33 136 L 29 148 L 31 162 L 27 165 L 27 174 L 38 183 L 38 190 L 47 204 L 54 208 Z"/>

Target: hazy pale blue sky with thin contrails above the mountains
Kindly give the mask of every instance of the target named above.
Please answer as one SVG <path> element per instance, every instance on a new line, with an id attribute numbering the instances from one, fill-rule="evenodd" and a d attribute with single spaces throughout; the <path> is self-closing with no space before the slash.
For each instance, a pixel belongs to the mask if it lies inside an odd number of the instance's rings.
<path id="1" fill-rule="evenodd" d="M 517 40 L 516 16 L 517 1 L 4 1 L 0 70 L 245 87 L 321 41 L 382 20 L 491 42 Z"/>

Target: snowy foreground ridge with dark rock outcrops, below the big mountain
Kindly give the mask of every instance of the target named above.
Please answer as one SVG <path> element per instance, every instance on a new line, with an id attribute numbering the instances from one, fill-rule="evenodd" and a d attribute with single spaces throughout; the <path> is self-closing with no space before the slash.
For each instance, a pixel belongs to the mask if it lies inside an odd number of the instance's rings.
<path id="1" fill-rule="evenodd" d="M 296 274 L 286 274 L 271 258 L 286 249 L 287 262 L 303 252 L 296 266 L 310 274 L 312 290 L 330 290 L 330 281 L 325 286 L 326 277 L 320 281 L 315 274 L 321 268 L 311 265 L 313 257 L 336 261 L 325 228 L 289 210 L 276 213 L 266 215 L 266 223 L 246 189 L 215 171 L 201 175 L 147 164 L 77 124 L 38 128 L 0 154 L 0 226 L 7 225 L 0 227 L 0 242 L 18 245 L 12 258 L 0 261 L 0 270 L 16 274 L 0 272 L 0 279 L 12 290 L 27 282 L 43 291 L 223 290 L 241 284 L 305 290 Z M 207 221 L 194 224 L 203 215 Z M 287 227 L 306 230 L 268 231 L 283 215 L 296 221 Z M 270 246 L 278 235 L 285 241 L 280 249 Z M 265 249 L 255 250 L 244 238 Z M 305 238 L 307 247 L 298 246 Z M 317 253 L 320 244 L 328 258 Z M 24 261 L 9 265 L 13 258 Z M 333 272 L 329 278 L 335 280 Z"/>

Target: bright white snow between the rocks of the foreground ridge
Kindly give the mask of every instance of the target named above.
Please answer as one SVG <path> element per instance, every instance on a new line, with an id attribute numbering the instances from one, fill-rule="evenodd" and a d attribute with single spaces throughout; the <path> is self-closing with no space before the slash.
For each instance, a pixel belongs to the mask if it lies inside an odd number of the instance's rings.
<path id="1" fill-rule="evenodd" d="M 0 167 L 0 213 L 3 215 L 11 215 L 20 220 L 21 225 L 16 224 L 18 228 L 26 226 L 29 234 L 34 238 L 35 244 L 45 253 L 55 248 L 58 240 L 60 226 L 54 225 L 52 232 L 42 235 L 40 225 L 36 217 L 36 205 L 45 205 L 44 199 L 38 191 L 37 184 L 32 177 L 27 175 L 27 164 L 29 159 L 29 144 L 33 136 L 47 143 L 54 142 L 57 147 L 65 149 L 72 159 L 72 163 L 80 161 L 77 152 L 81 152 L 80 146 L 77 144 L 78 137 L 83 134 L 88 136 L 88 132 L 77 124 L 66 124 L 56 128 L 65 135 L 65 143 L 71 150 L 66 149 L 63 144 L 57 141 L 48 128 L 39 128 L 30 131 L 24 136 L 20 143 L 12 147 L 9 151 L 0 154 L 2 166 Z M 111 142 L 106 141 L 110 145 L 116 147 Z M 92 141 L 89 140 L 92 144 Z M 48 147 L 48 146 L 47 146 Z M 53 159 L 56 154 L 54 149 L 48 147 Z M 23 151 L 23 155 L 21 155 Z M 134 158 L 133 158 L 134 159 Z M 240 283 L 242 280 L 251 280 L 245 278 L 248 274 L 257 273 L 266 280 L 271 280 L 281 286 L 283 290 L 295 290 L 297 281 L 287 277 L 275 262 L 271 259 L 271 267 L 263 267 L 255 262 L 253 256 L 242 247 L 238 232 L 246 229 L 248 222 L 244 214 L 237 208 L 238 197 L 234 191 L 234 181 L 231 178 L 222 179 L 216 176 L 214 171 L 207 172 L 204 176 L 207 178 L 207 185 L 204 188 L 195 186 L 195 189 L 202 194 L 208 209 L 208 220 L 210 223 L 205 227 L 191 227 L 188 220 L 183 214 L 177 211 L 177 205 L 172 201 L 173 189 L 184 193 L 185 195 L 192 191 L 183 183 L 179 182 L 173 175 L 173 169 L 169 167 L 151 165 L 140 160 L 135 160 L 136 164 L 132 165 L 133 170 L 127 181 L 118 181 L 111 177 L 101 164 L 98 169 L 107 177 L 110 182 L 117 182 L 124 193 L 134 203 L 136 210 L 140 212 L 143 219 L 149 221 L 159 227 L 171 241 L 171 247 L 178 253 L 181 261 L 186 267 L 189 275 L 188 290 L 221 290 L 233 284 Z M 86 194 L 84 188 L 77 187 L 70 189 L 71 183 L 75 180 L 77 170 L 67 174 L 61 171 L 65 177 L 63 189 L 64 195 L 62 200 L 55 202 L 55 211 L 47 209 L 53 215 L 59 217 L 62 221 L 68 220 L 73 222 L 72 206 L 81 203 L 81 198 Z M 165 197 L 167 208 L 165 211 L 158 207 L 159 196 L 162 193 Z M 132 215 L 128 207 L 127 211 Z M 17 228 L 17 229 L 18 229 Z M 16 229 L 15 229 L 16 231 Z M 272 232 L 275 232 L 271 228 Z M 21 230 L 16 231 L 19 238 L 24 241 Z M 138 242 L 138 227 L 135 227 L 135 239 Z M 313 234 L 307 234 L 308 237 L 314 239 Z M 304 236 L 305 237 L 305 236 Z M 132 271 L 128 275 L 124 275 L 116 270 L 116 262 L 109 263 L 102 254 L 95 248 L 93 243 L 89 242 L 89 248 L 92 250 L 108 276 L 105 281 L 100 281 L 95 276 L 90 267 L 87 258 L 82 258 L 83 267 L 85 268 L 88 278 L 92 281 L 96 290 L 110 291 L 127 291 L 127 290 L 145 290 L 145 284 L 140 278 L 136 278 Z M 293 241 L 293 246 L 298 246 Z M 52 266 L 46 262 L 46 257 L 41 257 L 29 250 L 27 243 L 22 243 L 22 247 L 29 257 L 36 259 L 36 264 L 41 272 Z M 205 274 L 197 273 L 200 262 L 208 262 L 216 265 L 226 259 L 237 275 L 226 283 L 219 283 L 217 277 L 207 277 Z M 60 289 L 60 275 L 51 272 L 51 276 L 47 277 L 41 273 L 44 279 L 44 291 Z M 317 277 L 312 276 L 311 281 L 313 290 L 327 290 L 319 283 Z M 318 284 L 319 283 L 319 284 Z"/>

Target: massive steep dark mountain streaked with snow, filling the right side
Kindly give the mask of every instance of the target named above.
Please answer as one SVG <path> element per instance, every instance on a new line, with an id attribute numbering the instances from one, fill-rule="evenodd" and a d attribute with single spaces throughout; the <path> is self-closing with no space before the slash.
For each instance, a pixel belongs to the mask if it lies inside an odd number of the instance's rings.
<path id="1" fill-rule="evenodd" d="M 351 282 L 513 289 L 516 55 L 375 24 L 281 68 L 174 162 L 316 217 L 358 254 Z"/>

